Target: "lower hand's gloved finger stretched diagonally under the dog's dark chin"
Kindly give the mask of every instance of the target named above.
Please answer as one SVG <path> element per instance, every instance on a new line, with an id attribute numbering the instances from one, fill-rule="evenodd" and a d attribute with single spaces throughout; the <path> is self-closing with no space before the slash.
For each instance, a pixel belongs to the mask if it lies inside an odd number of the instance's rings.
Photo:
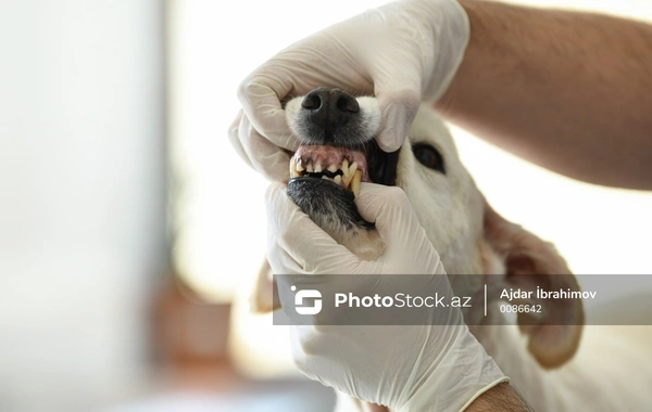
<path id="1" fill-rule="evenodd" d="M 265 202 L 269 232 L 278 246 L 299 266 L 273 267 L 276 273 L 341 274 L 356 271 L 360 259 L 316 226 L 288 196 L 286 185 L 269 185 Z"/>

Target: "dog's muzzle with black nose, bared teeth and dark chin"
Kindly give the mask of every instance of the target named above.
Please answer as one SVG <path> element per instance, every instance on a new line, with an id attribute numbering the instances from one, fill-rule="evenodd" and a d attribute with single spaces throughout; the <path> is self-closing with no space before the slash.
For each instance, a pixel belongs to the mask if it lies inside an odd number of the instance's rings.
<path id="1" fill-rule="evenodd" d="M 288 112 L 302 142 L 290 160 L 288 194 L 331 235 L 337 230 L 374 228 L 355 207 L 361 182 L 396 184 L 399 151 L 385 153 L 378 147 L 374 139 L 378 124 L 369 124 L 369 116 L 378 119 L 378 108 L 366 102 L 361 107 L 342 90 L 318 88 L 298 110 Z"/>

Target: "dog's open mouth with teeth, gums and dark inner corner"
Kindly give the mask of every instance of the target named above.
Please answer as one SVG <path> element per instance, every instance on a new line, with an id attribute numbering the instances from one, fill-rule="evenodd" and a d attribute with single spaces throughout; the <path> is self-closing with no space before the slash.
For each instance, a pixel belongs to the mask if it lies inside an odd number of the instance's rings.
<path id="1" fill-rule="evenodd" d="M 396 185 L 399 151 L 386 153 L 372 140 L 356 147 L 301 145 L 290 159 L 290 180 L 321 179 L 360 195 L 361 182 Z"/>

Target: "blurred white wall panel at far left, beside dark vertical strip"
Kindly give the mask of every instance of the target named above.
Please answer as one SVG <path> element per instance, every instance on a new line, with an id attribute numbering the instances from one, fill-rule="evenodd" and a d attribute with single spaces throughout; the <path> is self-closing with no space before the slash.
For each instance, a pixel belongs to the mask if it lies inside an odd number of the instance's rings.
<path id="1" fill-rule="evenodd" d="M 162 62 L 159 1 L 0 2 L 0 410 L 86 409 L 142 371 Z"/>

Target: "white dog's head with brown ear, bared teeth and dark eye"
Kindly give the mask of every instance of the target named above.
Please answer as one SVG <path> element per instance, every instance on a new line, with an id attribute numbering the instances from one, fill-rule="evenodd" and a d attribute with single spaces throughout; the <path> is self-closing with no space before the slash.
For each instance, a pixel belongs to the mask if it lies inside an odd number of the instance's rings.
<path id="1" fill-rule="evenodd" d="M 551 244 L 506 221 L 487 204 L 432 110 L 419 110 L 410 136 L 394 153 L 385 153 L 375 143 L 381 116 L 374 98 L 319 88 L 289 101 L 286 113 L 290 129 L 303 143 L 290 163 L 289 195 L 361 258 L 380 255 L 383 242 L 373 222 L 364 221 L 355 208 L 360 182 L 396 184 L 410 198 L 459 293 L 473 294 L 485 280 L 477 276 L 477 282 L 460 285 L 456 273 L 504 274 L 505 286 L 522 289 L 536 287 L 528 275 L 555 287 L 579 288 L 574 278 L 555 276 L 570 272 Z M 584 311 L 575 300 L 547 308 L 546 313 L 538 324 L 526 325 L 522 318 L 519 323 L 529 335 L 530 353 L 541 365 L 555 368 L 575 353 L 581 326 L 568 324 L 580 325 Z"/>

